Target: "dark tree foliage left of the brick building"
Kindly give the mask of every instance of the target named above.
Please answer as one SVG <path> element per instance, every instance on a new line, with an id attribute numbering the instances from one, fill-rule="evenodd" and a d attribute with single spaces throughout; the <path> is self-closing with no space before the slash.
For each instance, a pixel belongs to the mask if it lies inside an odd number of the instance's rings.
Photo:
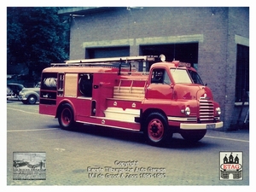
<path id="1" fill-rule="evenodd" d="M 68 16 L 55 7 L 7 8 L 7 67 L 26 65 L 39 75 L 51 62 L 68 59 Z"/>

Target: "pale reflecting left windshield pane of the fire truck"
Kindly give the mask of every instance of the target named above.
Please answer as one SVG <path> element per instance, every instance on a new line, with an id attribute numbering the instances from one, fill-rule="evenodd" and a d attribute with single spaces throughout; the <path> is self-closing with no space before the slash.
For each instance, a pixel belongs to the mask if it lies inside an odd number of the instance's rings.
<path id="1" fill-rule="evenodd" d="M 176 84 L 192 84 L 186 69 L 171 68 L 170 71 Z"/>

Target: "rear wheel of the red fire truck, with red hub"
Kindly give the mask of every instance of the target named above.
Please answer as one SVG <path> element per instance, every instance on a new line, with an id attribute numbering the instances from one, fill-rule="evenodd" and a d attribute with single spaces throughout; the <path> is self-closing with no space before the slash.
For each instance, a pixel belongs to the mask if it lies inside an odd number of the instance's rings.
<path id="1" fill-rule="evenodd" d="M 70 104 L 64 104 L 61 107 L 61 113 L 58 116 L 59 124 L 63 130 L 72 130 L 74 125 L 73 108 Z"/>

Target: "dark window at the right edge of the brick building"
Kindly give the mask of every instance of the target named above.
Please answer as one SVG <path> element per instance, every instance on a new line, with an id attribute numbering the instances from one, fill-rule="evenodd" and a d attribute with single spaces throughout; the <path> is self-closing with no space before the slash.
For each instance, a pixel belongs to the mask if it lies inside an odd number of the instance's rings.
<path id="1" fill-rule="evenodd" d="M 249 91 L 249 47 L 237 44 L 236 102 L 247 102 Z"/>

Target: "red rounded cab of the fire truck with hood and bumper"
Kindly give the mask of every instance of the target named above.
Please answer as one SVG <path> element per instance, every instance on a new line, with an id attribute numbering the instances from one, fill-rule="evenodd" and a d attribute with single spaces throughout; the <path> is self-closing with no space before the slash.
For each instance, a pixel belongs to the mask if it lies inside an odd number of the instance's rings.
<path id="1" fill-rule="evenodd" d="M 223 126 L 221 110 L 213 101 L 212 91 L 189 63 L 155 63 L 150 68 L 146 90 L 143 112 L 157 111 L 158 120 L 148 128 L 154 129 L 151 135 L 156 138 L 163 137 L 165 124 L 171 127 L 171 134 L 178 132 L 192 142 L 201 140 L 207 129 Z"/>

